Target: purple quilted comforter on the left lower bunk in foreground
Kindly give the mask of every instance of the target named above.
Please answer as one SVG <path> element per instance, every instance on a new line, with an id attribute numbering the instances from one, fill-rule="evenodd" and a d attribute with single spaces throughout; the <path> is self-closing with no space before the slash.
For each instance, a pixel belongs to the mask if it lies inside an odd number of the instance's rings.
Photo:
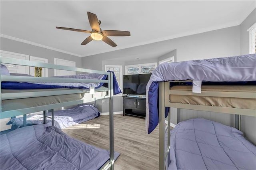
<path id="1" fill-rule="evenodd" d="M 98 170 L 110 158 L 108 150 L 48 125 L 19 128 L 2 134 L 0 141 L 1 170 Z M 118 156 L 114 152 L 114 158 Z"/>

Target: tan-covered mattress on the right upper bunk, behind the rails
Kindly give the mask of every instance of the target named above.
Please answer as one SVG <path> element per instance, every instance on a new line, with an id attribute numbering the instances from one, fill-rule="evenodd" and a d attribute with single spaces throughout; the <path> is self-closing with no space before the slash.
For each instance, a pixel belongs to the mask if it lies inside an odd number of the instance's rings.
<path id="1" fill-rule="evenodd" d="M 190 85 L 172 86 L 170 90 L 192 91 Z M 204 85 L 201 91 L 226 91 L 226 92 L 256 92 L 256 86 L 232 86 L 232 85 Z M 241 100 L 243 102 L 241 102 Z M 207 97 L 192 95 L 170 95 L 170 102 L 191 105 L 232 107 L 240 109 L 256 109 L 256 99 L 232 98 L 232 97 Z"/>

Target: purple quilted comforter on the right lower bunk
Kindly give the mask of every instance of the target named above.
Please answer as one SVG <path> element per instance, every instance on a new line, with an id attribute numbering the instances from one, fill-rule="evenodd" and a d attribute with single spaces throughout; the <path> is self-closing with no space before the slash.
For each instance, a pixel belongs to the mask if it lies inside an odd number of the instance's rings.
<path id="1" fill-rule="evenodd" d="M 190 119 L 171 131 L 170 160 L 168 170 L 255 170 L 256 146 L 236 128 Z"/>

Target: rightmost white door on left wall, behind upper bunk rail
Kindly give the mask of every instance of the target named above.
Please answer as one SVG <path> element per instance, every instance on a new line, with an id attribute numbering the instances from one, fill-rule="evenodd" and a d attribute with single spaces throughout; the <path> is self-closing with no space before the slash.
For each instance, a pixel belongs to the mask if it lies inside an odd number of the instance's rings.
<path id="1" fill-rule="evenodd" d="M 76 67 L 76 62 L 75 61 L 69 61 L 69 60 L 58 59 L 58 58 L 54 58 L 54 64 L 65 65 L 65 66 L 70 66 L 70 67 Z M 76 74 L 76 71 L 67 71 L 67 70 L 57 70 L 57 69 L 54 69 L 54 75 L 55 76 L 75 75 L 75 74 Z"/>

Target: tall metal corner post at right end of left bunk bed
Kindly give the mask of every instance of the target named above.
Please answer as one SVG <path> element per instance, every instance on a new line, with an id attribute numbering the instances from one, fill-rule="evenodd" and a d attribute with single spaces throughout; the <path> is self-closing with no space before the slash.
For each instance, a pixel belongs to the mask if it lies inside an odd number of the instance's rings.
<path id="1" fill-rule="evenodd" d="M 109 145 L 110 145 L 110 164 L 111 170 L 114 170 L 114 106 L 113 106 L 113 73 L 110 73 L 109 88 Z"/>

